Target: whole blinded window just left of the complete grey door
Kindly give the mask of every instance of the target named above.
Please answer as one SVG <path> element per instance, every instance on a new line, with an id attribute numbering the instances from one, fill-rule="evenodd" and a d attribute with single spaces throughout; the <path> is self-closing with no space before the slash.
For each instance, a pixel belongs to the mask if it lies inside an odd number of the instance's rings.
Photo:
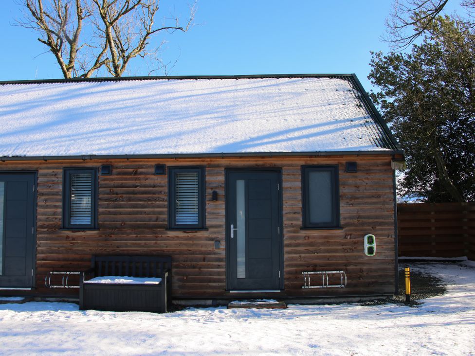
<path id="1" fill-rule="evenodd" d="M 201 167 L 169 169 L 169 227 L 204 227 L 204 174 Z"/>

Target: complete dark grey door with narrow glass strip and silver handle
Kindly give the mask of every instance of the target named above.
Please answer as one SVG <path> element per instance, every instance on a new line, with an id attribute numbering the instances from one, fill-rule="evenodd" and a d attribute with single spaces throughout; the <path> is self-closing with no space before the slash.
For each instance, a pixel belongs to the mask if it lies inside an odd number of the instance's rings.
<path id="1" fill-rule="evenodd" d="M 230 290 L 280 290 L 279 172 L 227 171 L 226 253 Z"/>

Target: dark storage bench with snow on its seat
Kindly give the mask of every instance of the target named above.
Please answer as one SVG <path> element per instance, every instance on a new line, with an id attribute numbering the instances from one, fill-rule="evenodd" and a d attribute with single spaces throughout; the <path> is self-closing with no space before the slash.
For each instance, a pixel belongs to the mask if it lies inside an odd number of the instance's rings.
<path id="1" fill-rule="evenodd" d="M 149 283 L 93 283 L 95 277 L 146 277 Z M 157 283 L 157 278 L 161 281 Z M 125 279 L 125 278 L 123 278 Z M 152 281 L 155 280 L 155 282 Z M 90 281 L 90 282 L 88 282 Z M 96 281 L 100 282 L 100 281 Z M 79 308 L 166 313 L 171 302 L 171 257 L 92 256 L 80 277 Z"/>

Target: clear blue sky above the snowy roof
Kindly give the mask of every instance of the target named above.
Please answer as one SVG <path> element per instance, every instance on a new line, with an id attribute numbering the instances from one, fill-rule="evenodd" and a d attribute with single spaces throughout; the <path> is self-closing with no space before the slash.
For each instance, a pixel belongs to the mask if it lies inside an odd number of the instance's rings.
<path id="1" fill-rule="evenodd" d="M 54 56 L 40 54 L 45 48 L 37 34 L 12 25 L 21 17 L 15 2 L 0 5 L 0 45 L 7 49 L 0 57 L 0 80 L 61 78 Z M 164 61 L 178 58 L 169 75 L 356 73 L 369 90 L 369 51 L 388 51 L 380 37 L 391 2 L 200 0 L 199 25 L 165 37 Z M 172 13 L 184 18 L 182 4 L 186 2 L 162 0 L 159 17 Z M 132 63 L 126 75 L 146 71 Z"/>

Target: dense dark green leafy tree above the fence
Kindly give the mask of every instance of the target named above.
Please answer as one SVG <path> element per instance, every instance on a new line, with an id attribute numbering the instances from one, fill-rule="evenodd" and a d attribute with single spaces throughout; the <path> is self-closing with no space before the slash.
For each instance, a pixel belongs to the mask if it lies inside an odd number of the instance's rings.
<path id="1" fill-rule="evenodd" d="M 400 195 L 475 200 L 475 33 L 438 17 L 410 53 L 372 53 L 371 93 L 406 153 Z"/>

